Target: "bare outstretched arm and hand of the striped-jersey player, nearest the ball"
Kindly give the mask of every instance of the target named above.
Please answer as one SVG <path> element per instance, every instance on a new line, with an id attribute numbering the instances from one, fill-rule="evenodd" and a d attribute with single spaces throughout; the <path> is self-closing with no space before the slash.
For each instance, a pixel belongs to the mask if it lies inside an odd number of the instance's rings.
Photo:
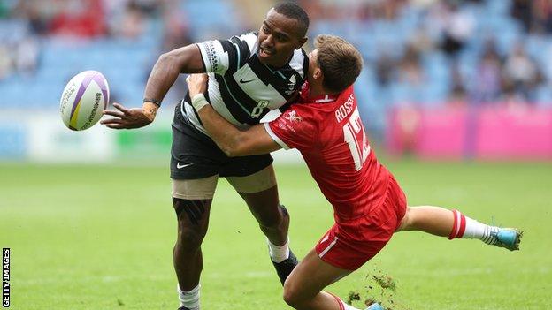
<path id="1" fill-rule="evenodd" d="M 161 55 L 153 66 L 144 91 L 142 108 L 126 109 L 120 103 L 113 103 L 117 110 L 105 110 L 105 119 L 101 124 L 114 129 L 140 128 L 149 125 L 155 119 L 157 110 L 166 93 L 180 73 L 205 72 L 203 60 L 196 44 Z"/>

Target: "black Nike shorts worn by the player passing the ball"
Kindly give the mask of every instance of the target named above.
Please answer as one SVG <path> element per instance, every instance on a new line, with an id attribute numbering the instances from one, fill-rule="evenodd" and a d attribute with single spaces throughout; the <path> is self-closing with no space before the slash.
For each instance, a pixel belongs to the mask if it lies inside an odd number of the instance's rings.
<path id="1" fill-rule="evenodd" d="M 180 104 L 176 106 L 171 147 L 171 178 L 207 178 L 217 174 L 220 177 L 245 177 L 265 169 L 271 163 L 270 154 L 226 156 L 210 137 L 188 123 L 180 113 Z"/>

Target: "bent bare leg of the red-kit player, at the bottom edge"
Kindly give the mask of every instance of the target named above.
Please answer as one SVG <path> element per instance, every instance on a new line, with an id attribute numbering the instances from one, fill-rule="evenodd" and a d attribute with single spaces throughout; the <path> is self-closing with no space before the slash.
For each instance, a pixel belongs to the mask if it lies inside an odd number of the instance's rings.
<path id="1" fill-rule="evenodd" d="M 284 301 L 300 310 L 354 310 L 338 297 L 322 291 L 350 270 L 334 267 L 322 261 L 316 251 L 311 250 L 289 275 L 284 284 Z"/>

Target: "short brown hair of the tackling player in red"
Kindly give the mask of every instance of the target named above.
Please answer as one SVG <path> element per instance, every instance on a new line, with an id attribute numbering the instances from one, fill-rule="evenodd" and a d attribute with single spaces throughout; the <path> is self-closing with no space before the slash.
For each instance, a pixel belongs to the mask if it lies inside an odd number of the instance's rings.
<path id="1" fill-rule="evenodd" d="M 363 58 L 353 44 L 339 36 L 318 35 L 318 65 L 324 74 L 322 86 L 332 93 L 341 93 L 357 80 L 362 71 Z"/>

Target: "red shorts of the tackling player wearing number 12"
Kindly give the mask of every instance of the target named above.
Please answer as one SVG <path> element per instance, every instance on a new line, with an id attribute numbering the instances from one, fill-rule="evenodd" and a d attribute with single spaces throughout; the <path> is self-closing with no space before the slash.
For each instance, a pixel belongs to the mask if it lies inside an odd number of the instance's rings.
<path id="1" fill-rule="evenodd" d="M 370 214 L 335 223 L 315 246 L 322 261 L 337 268 L 357 270 L 387 244 L 406 213 L 406 196 L 389 175 L 386 196 Z"/>

